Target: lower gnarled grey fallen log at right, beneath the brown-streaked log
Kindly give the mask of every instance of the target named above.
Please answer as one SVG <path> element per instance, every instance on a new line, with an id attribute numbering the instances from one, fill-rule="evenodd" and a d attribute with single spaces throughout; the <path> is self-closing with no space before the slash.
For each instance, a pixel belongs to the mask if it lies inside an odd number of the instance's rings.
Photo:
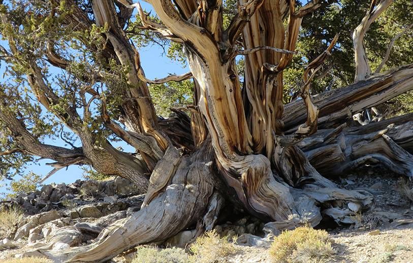
<path id="1" fill-rule="evenodd" d="M 309 162 L 325 176 L 345 174 L 366 164 L 382 165 L 396 174 L 413 176 L 411 114 L 342 131 L 325 142 L 330 130 L 300 142 Z M 405 122 L 407 121 L 407 122 Z"/>

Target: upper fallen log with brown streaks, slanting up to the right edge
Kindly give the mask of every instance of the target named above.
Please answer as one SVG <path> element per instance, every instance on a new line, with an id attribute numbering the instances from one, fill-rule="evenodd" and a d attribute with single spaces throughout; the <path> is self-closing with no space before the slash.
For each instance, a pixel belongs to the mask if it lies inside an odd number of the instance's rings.
<path id="1" fill-rule="evenodd" d="M 362 109 L 386 102 L 413 89 L 413 64 L 401 66 L 370 77 L 348 87 L 328 91 L 312 97 L 312 102 L 320 109 L 319 128 L 340 125 Z M 304 123 L 306 109 L 302 101 L 294 101 L 284 106 L 285 131 L 293 132 Z"/>

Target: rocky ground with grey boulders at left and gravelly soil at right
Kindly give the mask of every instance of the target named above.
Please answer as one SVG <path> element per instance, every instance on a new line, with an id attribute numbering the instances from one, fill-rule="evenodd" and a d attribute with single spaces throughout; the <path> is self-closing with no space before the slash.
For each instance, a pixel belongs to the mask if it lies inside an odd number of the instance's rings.
<path id="1" fill-rule="evenodd" d="M 336 180 L 346 189 L 363 189 L 374 195 L 375 205 L 368 211 L 348 217 L 349 224 L 337 226 L 323 221 L 320 228 L 329 232 L 335 256 L 329 262 L 413 262 L 413 207 L 398 189 L 398 176 L 366 169 Z M 45 185 L 40 191 L 20 195 L 2 206 L 21 206 L 27 217 L 17 230 L 0 241 L 0 260 L 19 256 L 34 247 L 61 249 L 93 242 L 103 228 L 140 209 L 143 196 L 120 177 L 108 181 L 76 181 L 72 184 Z M 260 220 L 238 215 L 219 222 L 215 230 L 223 236 L 237 237 L 238 253 L 230 262 L 269 262 L 271 238 L 261 238 L 273 230 Z M 195 231 L 181 232 L 165 246 L 184 246 Z M 252 245 L 252 246 L 251 246 Z M 34 254 L 36 255 L 36 254 Z M 130 262 L 124 254 L 112 262 Z M 1 262 L 1 261 L 0 261 Z"/>

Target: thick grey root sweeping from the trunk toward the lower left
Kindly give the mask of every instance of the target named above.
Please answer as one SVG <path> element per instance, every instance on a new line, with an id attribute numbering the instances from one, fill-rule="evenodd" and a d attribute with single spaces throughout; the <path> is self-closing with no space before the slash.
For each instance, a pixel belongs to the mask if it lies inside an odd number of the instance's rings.
<path id="1" fill-rule="evenodd" d="M 53 251 L 37 248 L 56 262 L 103 262 L 139 244 L 163 241 L 202 220 L 214 191 L 213 152 L 204 143 L 198 154 L 182 157 L 165 192 L 132 216 L 106 228 L 91 245 Z"/>

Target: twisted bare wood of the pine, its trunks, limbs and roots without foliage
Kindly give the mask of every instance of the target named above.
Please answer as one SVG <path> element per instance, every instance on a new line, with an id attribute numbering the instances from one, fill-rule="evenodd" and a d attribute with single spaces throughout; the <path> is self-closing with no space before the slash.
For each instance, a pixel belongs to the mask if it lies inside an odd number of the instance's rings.
<path id="1" fill-rule="evenodd" d="M 75 1 L 68 2 L 76 8 L 65 16 L 65 23 L 76 21 L 81 28 L 90 28 L 93 21 Z M 413 175 L 409 153 L 412 124 L 406 117 L 362 129 L 343 124 L 355 112 L 413 89 L 413 64 L 311 97 L 311 80 L 334 49 L 336 36 L 306 67 L 302 100 L 283 105 L 282 71 L 295 53 L 302 17 L 319 7 L 319 1 L 300 9 L 294 0 L 240 1 L 228 28 L 223 27 L 220 0 L 147 1 L 162 24 L 149 20 L 138 3 L 117 2 L 121 3 L 118 9 L 111 0 L 95 0 L 91 9 L 96 25 L 108 28 L 102 33 L 107 40 L 104 57 L 114 57 L 114 63 L 125 68 L 127 85 L 119 105 L 124 126 L 111 120 L 104 94 L 93 89 L 87 91 L 92 95 L 89 101 L 83 92 L 81 105 L 70 105 L 64 114 L 57 111 L 53 106 L 58 104 L 58 95 L 45 85 L 36 60 L 30 61 L 31 73 L 27 74 L 31 89 L 39 103 L 80 138 L 82 148 L 60 149 L 64 155 L 50 154 L 58 148 L 30 137 L 5 103 L 0 104 L 0 120 L 8 129 L 18 130 L 11 137 L 20 151 L 42 157 L 47 154 L 63 164 L 76 160 L 100 172 L 129 178 L 146 192 L 145 200 L 140 211 L 105 229 L 90 245 L 63 251 L 35 248 L 28 254 L 40 253 L 56 262 L 103 262 L 138 244 L 164 241 L 186 228 L 212 229 L 224 199 L 262 220 L 274 221 L 279 230 L 308 223 L 316 226 L 322 209 L 344 210 L 349 203 L 366 209 L 372 202 L 369 193 L 339 189 L 319 172 L 331 176 L 366 163 L 380 163 Z M 391 1 L 387 2 L 390 5 Z M 130 16 L 133 8 L 138 9 L 142 28 L 182 44 L 190 73 L 157 82 L 145 77 L 139 53 L 123 31 L 124 16 Z M 6 15 L 2 21 L 7 23 Z M 362 35 L 359 37 L 362 43 Z M 14 46 L 13 34 L 9 43 L 14 54 L 21 52 Z M 94 48 L 85 43 L 88 49 Z M 359 54 L 359 46 L 356 49 Z M 235 64 L 237 55 L 245 55 L 243 88 Z M 47 56 L 53 65 L 70 70 L 52 49 Z M 361 67 L 358 74 L 364 70 Z M 360 74 L 370 73 L 365 71 Z M 192 118 L 175 111 L 174 117 L 158 120 L 146 82 L 188 77 L 195 83 Z M 115 149 L 107 140 L 95 143 L 96 134 L 88 126 L 94 99 L 102 105 L 102 116 L 96 121 L 132 145 L 135 155 Z M 82 117 L 79 107 L 84 109 Z M 324 130 L 317 132 L 317 128 Z M 26 139 L 21 139 L 25 133 Z M 328 211 L 324 214 L 334 217 Z"/>

